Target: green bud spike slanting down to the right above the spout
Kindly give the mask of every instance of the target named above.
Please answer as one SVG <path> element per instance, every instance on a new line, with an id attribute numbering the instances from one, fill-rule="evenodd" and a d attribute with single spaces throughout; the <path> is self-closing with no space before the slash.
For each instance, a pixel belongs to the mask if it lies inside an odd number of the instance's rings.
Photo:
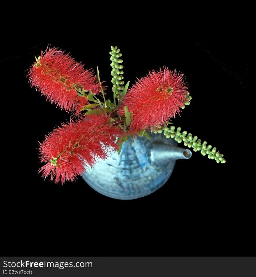
<path id="1" fill-rule="evenodd" d="M 192 136 L 191 133 L 187 133 L 187 131 L 181 132 L 181 128 L 178 127 L 175 131 L 175 127 L 167 127 L 167 125 L 161 126 L 161 127 L 154 127 L 151 128 L 151 131 L 154 132 L 154 134 L 161 134 L 163 133 L 166 138 L 174 138 L 175 141 L 178 143 L 184 142 L 185 146 L 188 146 L 189 148 L 193 148 L 193 150 L 200 151 L 203 156 L 208 155 L 209 159 L 215 159 L 217 163 L 224 164 L 226 161 L 223 159 L 223 154 L 220 152 L 216 152 L 216 147 L 211 149 L 211 145 L 207 145 L 207 142 L 204 141 L 201 142 L 200 139 L 198 139 L 197 136 Z"/>

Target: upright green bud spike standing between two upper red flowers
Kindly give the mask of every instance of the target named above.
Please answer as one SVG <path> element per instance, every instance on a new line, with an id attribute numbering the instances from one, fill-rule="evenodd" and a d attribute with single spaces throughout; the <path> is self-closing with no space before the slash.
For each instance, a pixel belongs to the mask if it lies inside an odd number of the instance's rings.
<path id="1" fill-rule="evenodd" d="M 124 72 L 120 69 L 122 69 L 124 66 L 121 65 L 121 63 L 123 62 L 122 59 L 119 59 L 119 57 L 122 56 L 122 54 L 120 53 L 120 49 L 117 48 L 117 46 L 113 47 L 111 46 L 111 52 L 109 52 L 109 54 L 111 55 L 110 59 L 111 59 L 111 67 L 112 67 L 112 71 L 111 71 L 111 75 L 113 76 L 111 82 L 113 84 L 112 90 L 114 92 L 115 90 L 115 94 L 117 98 L 120 98 L 120 94 L 122 93 L 122 90 L 124 89 L 123 84 L 125 83 L 123 80 L 123 76 L 122 74 L 124 74 Z"/>

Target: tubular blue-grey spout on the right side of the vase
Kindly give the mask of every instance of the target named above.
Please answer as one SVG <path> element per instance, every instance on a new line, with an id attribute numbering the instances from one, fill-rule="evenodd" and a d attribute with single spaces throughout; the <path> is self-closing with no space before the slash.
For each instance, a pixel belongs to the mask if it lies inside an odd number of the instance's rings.
<path id="1" fill-rule="evenodd" d="M 174 145 L 153 143 L 149 152 L 151 164 L 162 166 L 170 161 L 178 159 L 189 159 L 192 153 L 189 149 Z"/>

